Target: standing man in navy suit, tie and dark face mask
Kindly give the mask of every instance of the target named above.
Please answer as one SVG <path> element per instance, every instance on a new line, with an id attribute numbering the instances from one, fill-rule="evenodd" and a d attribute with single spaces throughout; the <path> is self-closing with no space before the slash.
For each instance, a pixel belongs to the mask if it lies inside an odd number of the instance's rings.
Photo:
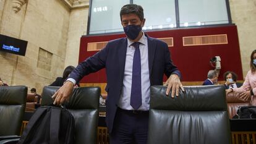
<path id="1" fill-rule="evenodd" d="M 67 100 L 73 85 L 84 76 L 106 67 L 108 92 L 106 124 L 114 144 L 147 143 L 150 86 L 168 80 L 166 95 L 184 91 L 181 73 L 171 60 L 168 45 L 142 32 L 143 8 L 136 4 L 123 6 L 121 23 L 127 38 L 109 41 L 104 49 L 79 64 L 66 83 L 53 95 L 54 104 Z"/>

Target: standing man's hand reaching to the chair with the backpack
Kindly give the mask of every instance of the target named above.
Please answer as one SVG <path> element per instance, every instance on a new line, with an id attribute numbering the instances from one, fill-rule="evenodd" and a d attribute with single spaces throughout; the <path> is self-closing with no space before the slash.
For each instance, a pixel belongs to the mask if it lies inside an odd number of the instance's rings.
<path id="1" fill-rule="evenodd" d="M 74 88 L 74 83 L 70 81 L 66 81 L 61 88 L 59 88 L 56 93 L 51 98 L 54 98 L 53 104 L 60 105 L 64 103 L 64 101 L 69 100 L 69 96 L 71 95 Z"/>

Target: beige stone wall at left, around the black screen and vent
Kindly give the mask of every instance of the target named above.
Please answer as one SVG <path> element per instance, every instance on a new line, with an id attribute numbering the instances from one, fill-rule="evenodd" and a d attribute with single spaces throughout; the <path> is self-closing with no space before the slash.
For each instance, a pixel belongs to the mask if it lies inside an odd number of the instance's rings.
<path id="1" fill-rule="evenodd" d="M 0 52 L 0 77 L 4 82 L 27 85 L 29 90 L 36 87 L 41 93 L 43 86 L 62 75 L 69 15 L 69 7 L 59 0 L 30 0 L 17 13 L 12 9 L 11 0 L 0 0 L 0 33 L 28 41 L 25 56 Z M 45 65 L 38 67 L 40 48 L 52 54 L 50 69 L 44 69 Z"/>

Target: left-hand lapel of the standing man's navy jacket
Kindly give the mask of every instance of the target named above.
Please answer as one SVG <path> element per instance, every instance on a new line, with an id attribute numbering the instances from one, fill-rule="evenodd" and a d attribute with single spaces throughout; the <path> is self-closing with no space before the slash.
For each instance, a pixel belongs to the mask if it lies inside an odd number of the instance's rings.
<path id="1" fill-rule="evenodd" d="M 118 48 L 119 76 L 122 83 L 124 79 L 124 66 L 126 65 L 127 38 L 124 38 Z"/>

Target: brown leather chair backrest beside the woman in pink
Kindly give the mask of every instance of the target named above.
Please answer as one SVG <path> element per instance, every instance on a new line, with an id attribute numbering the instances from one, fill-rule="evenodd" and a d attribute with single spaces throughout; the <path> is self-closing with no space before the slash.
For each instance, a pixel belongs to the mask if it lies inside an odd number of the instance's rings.
<path id="1" fill-rule="evenodd" d="M 239 98 L 239 93 L 229 93 L 226 95 L 227 103 L 228 103 L 228 112 L 229 112 L 229 118 L 232 119 L 234 115 L 237 113 L 237 109 L 239 106 L 249 106 L 249 101 L 244 101 L 241 98 Z"/>

